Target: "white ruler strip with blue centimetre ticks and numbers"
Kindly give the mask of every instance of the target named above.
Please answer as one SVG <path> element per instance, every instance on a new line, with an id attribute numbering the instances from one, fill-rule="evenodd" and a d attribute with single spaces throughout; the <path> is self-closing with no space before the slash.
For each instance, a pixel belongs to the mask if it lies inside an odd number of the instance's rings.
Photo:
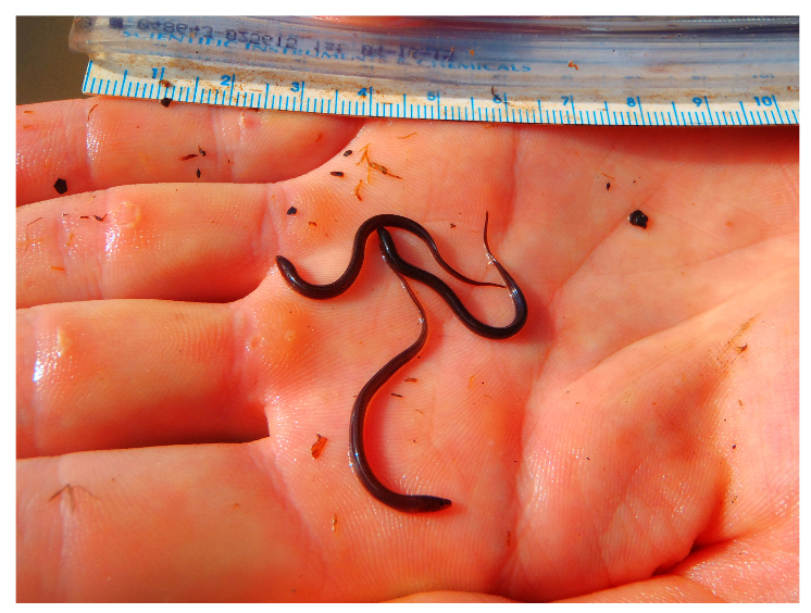
<path id="1" fill-rule="evenodd" d="M 442 120 L 488 123 L 615 125 L 615 126 L 714 126 L 714 125 L 798 125 L 799 100 L 759 91 L 759 96 L 713 99 L 711 92 L 688 91 L 683 100 L 645 100 L 632 96 L 624 100 L 587 100 L 579 95 L 554 93 L 520 98 L 522 91 L 491 90 L 492 98 L 440 89 L 410 88 L 392 91 L 391 84 L 375 79 L 346 78 L 335 88 L 338 77 L 308 73 L 264 70 L 242 71 L 215 65 L 160 65 L 159 57 L 115 54 L 91 59 L 83 92 L 223 107 L 270 109 L 334 115 Z M 229 73 L 229 74 L 228 74 Z M 264 78 L 257 75 L 262 74 Z M 250 76 L 247 76 L 250 75 Z M 363 83 L 360 83 L 363 82 Z M 367 85 L 364 85 L 366 83 Z M 406 88 L 399 84 L 400 87 Z M 126 86 L 126 89 L 125 89 Z M 133 86 L 135 88 L 133 89 Z M 395 85 L 397 87 L 397 85 Z M 712 100 L 712 105 L 710 104 Z"/>

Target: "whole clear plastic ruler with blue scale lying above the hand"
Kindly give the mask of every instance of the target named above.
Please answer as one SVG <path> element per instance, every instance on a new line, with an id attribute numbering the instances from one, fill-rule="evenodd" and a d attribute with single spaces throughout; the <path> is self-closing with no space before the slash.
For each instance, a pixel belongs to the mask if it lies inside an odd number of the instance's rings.
<path id="1" fill-rule="evenodd" d="M 414 23 L 414 18 L 410 20 Z M 799 124 L 799 17 L 77 17 L 88 95 L 457 122 Z"/>

